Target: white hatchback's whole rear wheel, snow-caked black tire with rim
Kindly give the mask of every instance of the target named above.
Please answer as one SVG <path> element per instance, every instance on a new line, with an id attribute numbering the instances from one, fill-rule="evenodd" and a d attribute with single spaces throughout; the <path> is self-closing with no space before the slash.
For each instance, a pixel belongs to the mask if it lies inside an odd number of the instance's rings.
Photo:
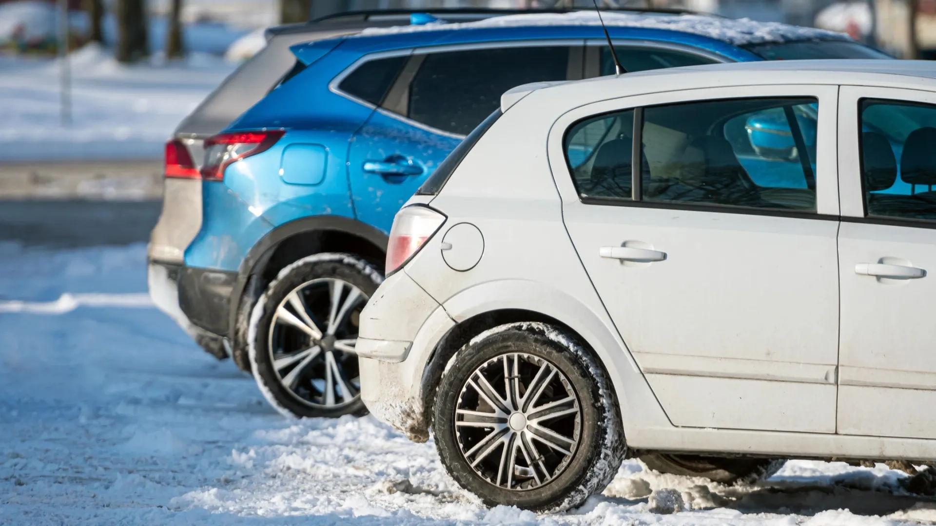
<path id="1" fill-rule="evenodd" d="M 519 358 L 512 361 L 514 357 Z M 521 364 L 510 366 L 514 369 L 509 377 L 504 372 L 506 366 L 498 365 L 507 361 Z M 495 369 L 497 367 L 501 367 L 500 373 Z M 541 388 L 530 387 L 531 383 L 536 381 L 535 375 L 546 367 L 555 369 L 559 374 L 548 376 L 550 380 L 542 384 Z M 481 411 L 483 407 L 491 407 L 487 402 L 483 402 L 479 390 L 475 389 L 475 394 L 471 394 L 474 387 L 470 387 L 468 382 L 471 379 L 477 382 L 474 385 L 480 385 L 481 379 L 477 374 L 491 374 L 491 378 L 500 374 L 505 378 L 505 382 L 516 382 L 510 385 L 517 386 L 518 393 L 522 390 L 519 401 L 507 403 L 521 409 L 510 415 L 525 411 L 531 418 L 530 422 L 527 422 L 526 417 L 515 421 L 512 417 L 498 416 L 498 421 L 503 420 L 498 424 L 500 431 L 490 431 L 489 434 L 493 437 L 498 433 L 505 433 L 500 436 L 511 438 L 506 438 L 506 442 L 497 446 L 497 449 L 487 456 L 484 456 L 483 451 L 501 439 L 491 439 L 486 445 L 478 446 L 485 438 L 478 438 L 480 435 L 477 433 L 486 433 L 488 428 L 467 427 L 464 419 L 471 416 L 456 415 L 460 403 L 470 411 Z M 547 374 L 544 373 L 543 377 L 547 377 Z M 499 389 L 499 397 L 506 396 L 509 400 L 511 395 L 505 394 L 505 383 L 496 388 Z M 525 399 L 527 389 L 532 388 L 536 390 L 530 392 L 540 394 L 534 395 L 532 399 Z M 553 402 L 562 402 L 570 393 L 578 397 L 575 404 L 578 413 L 548 418 L 541 416 L 547 411 L 541 408 L 548 402 L 540 401 L 545 398 L 547 401 L 552 399 Z M 468 405 L 465 405 L 466 403 Z M 472 409 L 470 405 L 475 408 Z M 548 411 L 552 412 L 563 406 L 558 405 Z M 560 413 L 563 411 L 560 410 Z M 503 325 L 478 335 L 471 343 L 465 345 L 442 379 L 433 413 L 435 445 L 446 471 L 462 488 L 471 491 L 484 504 L 491 506 L 516 505 L 534 511 L 561 511 L 578 506 L 593 493 L 607 487 L 617 475 L 627 449 L 622 436 L 618 403 L 604 368 L 597 358 L 575 339 L 563 334 L 560 329 L 542 323 L 521 322 Z M 505 413 L 502 411 L 501 414 Z M 539 421 L 534 420 L 534 416 L 539 416 Z M 534 434 L 542 433 L 542 420 L 549 422 L 543 425 L 550 427 L 551 431 L 564 430 L 559 431 L 563 436 L 578 436 L 577 444 L 567 446 L 568 454 L 560 453 L 534 437 Z M 461 422 L 461 427 L 456 426 L 457 421 Z M 498 430 L 495 427 L 490 429 Z M 554 440 L 556 444 L 564 444 L 558 439 L 549 439 Z M 508 444 L 516 444 L 517 449 L 514 451 L 519 451 L 515 453 L 518 460 L 513 464 L 513 470 L 505 470 L 504 459 L 509 457 L 505 456 Z M 465 453 L 462 453 L 462 447 L 466 448 Z M 477 451 L 482 453 L 471 453 L 471 447 L 480 447 Z M 532 457 L 534 461 L 520 457 L 527 452 L 530 456 L 526 458 Z M 491 472 L 496 473 L 497 485 L 490 481 L 491 476 L 486 478 L 486 475 L 475 472 L 466 456 L 473 456 L 477 465 L 482 468 L 491 461 L 495 462 L 498 467 Z M 498 461 L 497 458 L 502 460 Z M 508 462 L 507 466 L 509 465 Z M 506 476 L 510 473 L 513 475 Z M 514 476 L 517 478 L 513 479 Z M 505 481 L 503 486 L 500 485 L 502 479 Z"/>

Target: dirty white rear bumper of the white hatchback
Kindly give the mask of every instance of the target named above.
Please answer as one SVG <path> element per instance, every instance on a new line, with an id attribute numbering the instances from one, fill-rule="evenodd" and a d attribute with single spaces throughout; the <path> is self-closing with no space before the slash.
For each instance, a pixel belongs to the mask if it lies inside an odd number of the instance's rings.
<path id="1" fill-rule="evenodd" d="M 393 301 L 384 301 L 386 296 Z M 380 285 L 360 319 L 355 348 L 361 400 L 373 416 L 424 442 L 429 438 L 429 416 L 423 414 L 423 371 L 435 345 L 455 322 L 403 271 Z"/>

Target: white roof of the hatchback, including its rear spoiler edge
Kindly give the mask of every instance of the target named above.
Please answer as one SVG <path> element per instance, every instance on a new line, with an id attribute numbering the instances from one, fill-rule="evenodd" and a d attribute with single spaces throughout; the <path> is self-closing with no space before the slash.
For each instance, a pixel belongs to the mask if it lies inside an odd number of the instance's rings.
<path id="1" fill-rule="evenodd" d="M 769 72 L 769 75 L 757 73 Z M 501 110 L 534 92 L 546 107 L 574 108 L 592 101 L 721 86 L 852 84 L 936 91 L 936 66 L 923 60 L 789 60 L 736 62 L 653 69 L 619 76 L 563 82 L 534 82 L 510 89 Z M 674 86 L 674 88 L 661 88 Z M 752 91 L 756 95 L 755 91 Z"/>

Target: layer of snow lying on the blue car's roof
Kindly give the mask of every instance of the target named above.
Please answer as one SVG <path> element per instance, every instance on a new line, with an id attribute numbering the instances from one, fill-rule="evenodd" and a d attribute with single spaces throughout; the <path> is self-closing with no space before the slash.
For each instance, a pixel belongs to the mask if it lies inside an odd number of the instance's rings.
<path id="1" fill-rule="evenodd" d="M 755 22 L 750 19 L 726 19 L 709 15 L 660 15 L 650 13 L 623 13 L 604 11 L 602 13 L 608 27 L 639 27 L 666 29 L 690 33 L 702 37 L 715 38 L 743 46 L 766 42 L 790 42 L 800 40 L 850 40 L 843 33 L 798 27 L 780 22 Z M 433 22 L 422 25 L 397 25 L 392 27 L 372 27 L 365 29 L 359 37 L 399 35 L 426 31 L 458 29 L 490 29 L 524 26 L 581 26 L 600 25 L 598 14 L 594 11 L 573 11 L 570 13 L 535 13 L 524 15 L 506 15 L 477 22 L 445 23 Z"/>

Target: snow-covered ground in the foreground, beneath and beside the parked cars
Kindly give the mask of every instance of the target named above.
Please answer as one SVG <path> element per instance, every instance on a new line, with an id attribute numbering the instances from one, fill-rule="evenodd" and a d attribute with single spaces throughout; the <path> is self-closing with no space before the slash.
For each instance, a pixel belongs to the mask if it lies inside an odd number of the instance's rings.
<path id="1" fill-rule="evenodd" d="M 936 519 L 936 502 L 902 492 L 899 472 L 816 461 L 790 461 L 765 483 L 728 488 L 649 473 L 629 460 L 581 509 L 539 517 L 487 509 L 445 475 L 431 443 L 410 443 L 372 417 L 276 414 L 250 378 L 201 352 L 148 306 L 139 295 L 144 258 L 141 243 L 67 250 L 0 243 L 0 524 Z M 67 303 L 65 293 L 86 301 Z M 41 305 L 66 308 L 32 308 Z M 661 489 L 677 490 L 690 509 L 653 513 L 647 497 Z"/>

